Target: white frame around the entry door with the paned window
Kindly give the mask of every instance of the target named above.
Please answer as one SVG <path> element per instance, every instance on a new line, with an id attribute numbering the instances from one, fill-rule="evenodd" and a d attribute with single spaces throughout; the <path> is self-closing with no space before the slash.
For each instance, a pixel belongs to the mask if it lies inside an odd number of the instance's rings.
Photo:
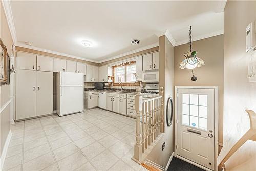
<path id="1" fill-rule="evenodd" d="M 178 103 L 177 103 L 177 98 L 178 98 L 178 89 L 214 89 L 214 129 L 215 129 L 215 138 L 214 138 L 214 170 L 218 170 L 217 168 L 217 157 L 218 157 L 218 142 L 219 142 L 219 87 L 218 86 L 175 86 L 175 140 L 174 140 L 174 152 L 177 158 L 180 158 L 188 163 L 191 163 L 193 165 L 196 165 L 202 169 L 211 171 L 210 169 L 197 164 L 193 161 L 190 161 L 184 157 L 181 157 L 177 155 L 177 132 L 178 132 Z"/>

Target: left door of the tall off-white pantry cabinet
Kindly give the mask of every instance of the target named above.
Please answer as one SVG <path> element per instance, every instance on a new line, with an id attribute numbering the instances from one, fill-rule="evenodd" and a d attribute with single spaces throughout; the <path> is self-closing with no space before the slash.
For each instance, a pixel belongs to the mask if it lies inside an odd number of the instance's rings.
<path id="1" fill-rule="evenodd" d="M 36 116 L 36 71 L 16 73 L 16 120 Z"/>

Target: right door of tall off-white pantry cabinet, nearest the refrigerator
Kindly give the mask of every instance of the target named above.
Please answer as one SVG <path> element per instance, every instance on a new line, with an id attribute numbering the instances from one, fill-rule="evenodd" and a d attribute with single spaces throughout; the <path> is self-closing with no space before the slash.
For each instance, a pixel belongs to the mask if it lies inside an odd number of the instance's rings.
<path id="1" fill-rule="evenodd" d="M 36 116 L 52 114 L 53 73 L 36 72 Z"/>

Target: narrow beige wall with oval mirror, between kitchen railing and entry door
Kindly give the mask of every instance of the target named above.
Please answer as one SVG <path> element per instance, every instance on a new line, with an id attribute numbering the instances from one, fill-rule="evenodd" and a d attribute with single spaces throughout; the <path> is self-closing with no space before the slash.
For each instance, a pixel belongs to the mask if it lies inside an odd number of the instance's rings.
<path id="1" fill-rule="evenodd" d="M 166 167 L 170 155 L 174 151 L 174 123 L 168 127 L 166 123 L 166 104 L 167 99 L 174 99 L 174 47 L 165 37 L 159 37 L 159 86 L 164 87 L 164 136 L 148 155 L 147 159 Z M 164 67 L 161 67 L 164 66 Z M 165 142 L 165 148 L 162 151 L 162 144 Z"/>

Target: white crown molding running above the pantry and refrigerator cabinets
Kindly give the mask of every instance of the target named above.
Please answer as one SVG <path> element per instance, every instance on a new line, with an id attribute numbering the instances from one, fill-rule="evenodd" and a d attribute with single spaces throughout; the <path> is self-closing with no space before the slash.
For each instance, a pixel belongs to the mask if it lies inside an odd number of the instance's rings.
<path id="1" fill-rule="evenodd" d="M 51 51 L 51 50 L 48 50 L 48 49 L 42 49 L 42 48 L 38 48 L 38 47 L 35 47 L 35 46 L 29 46 L 29 45 L 22 44 L 20 42 L 17 42 L 16 46 L 23 47 L 23 48 L 28 48 L 28 49 L 33 49 L 33 50 L 37 50 L 37 51 L 42 51 L 42 52 L 48 52 L 48 53 L 52 53 L 52 54 L 56 54 L 56 55 L 71 57 L 71 58 L 80 59 L 80 60 L 84 60 L 84 61 L 88 61 L 88 62 L 99 63 L 99 61 L 96 61 L 96 60 L 91 60 L 91 59 L 87 59 L 87 58 L 83 58 L 83 57 L 69 55 L 69 54 L 66 54 L 66 53 Z"/>

